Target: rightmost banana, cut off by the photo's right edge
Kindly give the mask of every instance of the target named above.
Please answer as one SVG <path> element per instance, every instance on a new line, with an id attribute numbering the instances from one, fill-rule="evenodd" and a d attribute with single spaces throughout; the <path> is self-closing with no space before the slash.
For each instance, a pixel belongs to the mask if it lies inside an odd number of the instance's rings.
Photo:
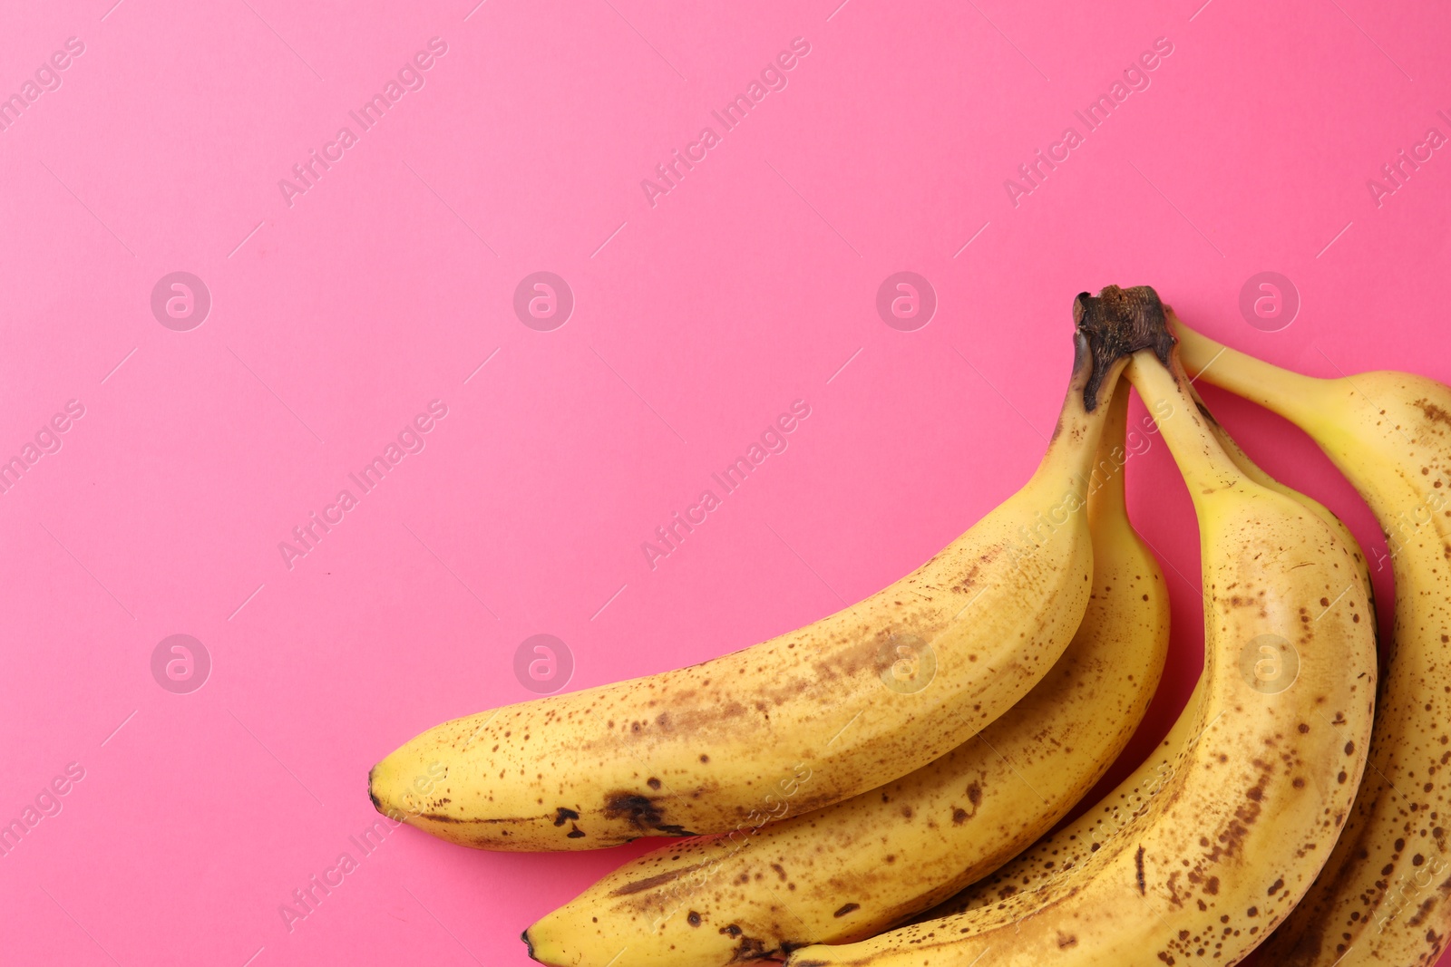
<path id="1" fill-rule="evenodd" d="M 1396 583 L 1370 768 L 1325 871 L 1265 944 L 1268 963 L 1434 964 L 1451 932 L 1451 389 L 1406 373 L 1312 378 L 1172 322 L 1190 371 L 1299 425 L 1355 484 Z"/>

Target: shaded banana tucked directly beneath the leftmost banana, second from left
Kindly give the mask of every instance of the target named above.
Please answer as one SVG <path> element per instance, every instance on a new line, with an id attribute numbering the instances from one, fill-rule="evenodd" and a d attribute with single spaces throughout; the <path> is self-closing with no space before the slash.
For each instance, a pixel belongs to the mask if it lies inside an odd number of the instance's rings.
<path id="1" fill-rule="evenodd" d="M 1123 499 L 1129 386 L 1088 491 L 1093 596 L 1048 676 L 917 771 L 753 835 L 696 838 L 605 876 L 524 934 L 554 967 L 724 967 L 859 939 L 977 880 L 1093 789 L 1143 718 L 1168 651 L 1168 592 Z"/>

